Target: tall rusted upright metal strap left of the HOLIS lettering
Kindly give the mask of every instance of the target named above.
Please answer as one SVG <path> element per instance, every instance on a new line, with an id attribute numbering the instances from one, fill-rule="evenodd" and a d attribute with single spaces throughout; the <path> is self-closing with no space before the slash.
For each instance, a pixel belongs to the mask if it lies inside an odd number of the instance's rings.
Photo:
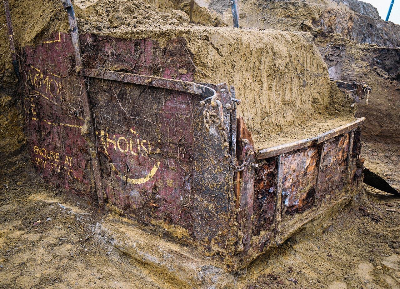
<path id="1" fill-rule="evenodd" d="M 75 54 L 75 64 L 76 64 L 76 72 L 79 75 L 79 72 L 83 68 L 82 64 L 82 55 L 80 50 L 79 43 L 79 33 L 78 33 L 78 23 L 76 22 L 74 8 L 72 7 L 72 3 L 70 0 L 61 0 L 62 5 L 68 13 L 68 22 L 70 24 L 72 44 L 74 46 L 74 54 Z M 90 105 L 90 98 L 88 95 L 88 84 L 86 83 L 86 79 L 82 76 L 78 77 L 78 80 L 81 83 L 81 98 L 83 104 L 83 110 L 85 115 L 85 128 L 86 131 L 82 130 L 82 136 L 86 139 L 88 143 L 88 151 L 90 153 L 90 161 L 92 163 L 92 169 L 94 174 L 94 180 L 92 184 L 94 185 L 94 189 L 96 190 L 98 204 L 104 204 L 104 195 L 102 188 L 102 173 L 100 169 L 100 158 L 98 155 L 97 142 L 96 142 L 96 127 L 94 126 L 93 115 L 92 115 L 92 107 Z"/>

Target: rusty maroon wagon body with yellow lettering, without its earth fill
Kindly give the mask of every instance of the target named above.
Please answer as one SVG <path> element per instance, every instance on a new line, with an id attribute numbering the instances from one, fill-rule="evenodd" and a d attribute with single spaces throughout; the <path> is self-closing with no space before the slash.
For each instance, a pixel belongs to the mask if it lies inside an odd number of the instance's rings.
<path id="1" fill-rule="evenodd" d="M 360 190 L 363 119 L 256 149 L 234 87 L 193 82 L 184 39 L 76 36 L 22 55 L 30 157 L 49 183 L 232 271 Z"/>

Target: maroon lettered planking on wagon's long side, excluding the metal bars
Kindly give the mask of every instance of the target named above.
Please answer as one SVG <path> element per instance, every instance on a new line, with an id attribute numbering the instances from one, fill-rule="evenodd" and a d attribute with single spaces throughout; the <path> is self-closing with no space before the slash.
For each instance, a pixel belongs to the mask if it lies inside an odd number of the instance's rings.
<path id="1" fill-rule="evenodd" d="M 149 39 L 80 38 L 87 68 L 193 78 L 195 67 L 183 38 L 172 39 L 165 47 Z M 27 131 L 32 160 L 42 175 L 81 195 L 91 195 L 94 177 L 86 140 L 81 135 L 81 86 L 72 52 L 66 34 L 56 34 L 36 48 L 26 48 Z M 229 200 L 233 201 L 226 194 L 232 184 L 228 182 L 229 159 L 224 155 L 231 109 L 218 108 L 223 126 L 212 124 L 207 131 L 205 107 L 200 105 L 199 96 L 99 79 L 89 79 L 88 88 L 107 199 L 137 219 L 180 225 L 206 244 L 220 235 L 217 244 L 225 247 Z M 214 89 L 219 100 L 232 108 L 226 84 Z M 215 134 L 219 130 L 221 133 Z M 211 153 L 209 157 L 220 153 L 220 161 L 215 166 L 201 165 L 208 162 L 207 153 Z M 58 165 L 64 158 L 68 163 Z M 204 183 L 200 177 L 194 180 L 194 171 L 204 175 L 207 169 L 210 172 Z M 210 202 L 214 209 L 207 210 Z"/>

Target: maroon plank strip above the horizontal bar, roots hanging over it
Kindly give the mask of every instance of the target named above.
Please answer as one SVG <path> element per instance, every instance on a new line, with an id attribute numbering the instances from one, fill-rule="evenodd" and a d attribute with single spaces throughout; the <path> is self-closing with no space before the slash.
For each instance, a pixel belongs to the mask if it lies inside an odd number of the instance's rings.
<path id="1" fill-rule="evenodd" d="M 196 67 L 184 38 L 173 38 L 164 47 L 149 38 L 85 34 L 80 39 L 86 68 L 193 81 Z"/>

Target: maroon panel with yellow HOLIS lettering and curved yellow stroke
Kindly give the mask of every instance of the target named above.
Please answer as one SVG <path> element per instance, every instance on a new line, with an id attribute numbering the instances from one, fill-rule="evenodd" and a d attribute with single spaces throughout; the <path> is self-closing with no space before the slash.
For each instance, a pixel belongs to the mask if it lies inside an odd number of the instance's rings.
<path id="1" fill-rule="evenodd" d="M 196 98 L 102 80 L 90 86 L 107 198 L 144 221 L 190 229 Z"/>

